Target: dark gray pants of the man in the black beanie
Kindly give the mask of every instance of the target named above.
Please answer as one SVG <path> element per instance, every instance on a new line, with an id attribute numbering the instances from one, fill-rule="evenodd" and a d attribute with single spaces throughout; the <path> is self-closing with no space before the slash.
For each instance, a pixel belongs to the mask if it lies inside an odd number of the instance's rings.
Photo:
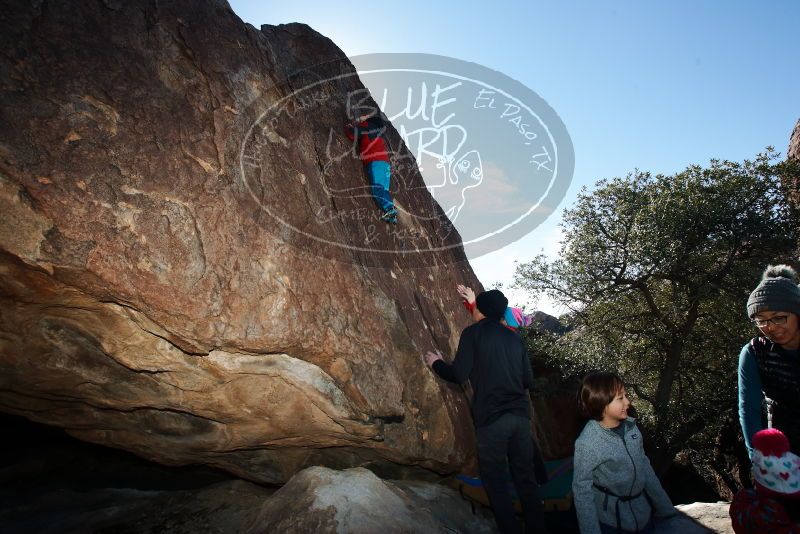
<path id="1" fill-rule="evenodd" d="M 522 503 L 525 532 L 543 532 L 544 516 L 533 468 L 531 421 L 514 414 L 476 429 L 481 479 L 500 532 L 520 532 L 509 491 L 508 472 Z"/>

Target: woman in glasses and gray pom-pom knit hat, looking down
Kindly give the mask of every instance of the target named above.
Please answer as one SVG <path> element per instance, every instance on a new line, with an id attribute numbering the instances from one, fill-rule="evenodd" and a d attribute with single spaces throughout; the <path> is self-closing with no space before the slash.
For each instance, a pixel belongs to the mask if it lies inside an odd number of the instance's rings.
<path id="1" fill-rule="evenodd" d="M 768 417 L 794 447 L 800 444 L 800 288 L 797 273 L 787 265 L 770 265 L 747 299 L 747 315 L 760 335 L 739 355 L 739 422 L 750 455 L 753 436 Z M 769 425 L 771 426 L 771 425 Z"/>

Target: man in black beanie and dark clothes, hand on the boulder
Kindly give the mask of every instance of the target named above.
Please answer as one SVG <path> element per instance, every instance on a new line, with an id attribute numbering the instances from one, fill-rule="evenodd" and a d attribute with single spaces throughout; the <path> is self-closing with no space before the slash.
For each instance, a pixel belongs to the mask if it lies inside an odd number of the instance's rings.
<path id="1" fill-rule="evenodd" d="M 531 364 L 522 339 L 500 322 L 508 306 L 503 293 L 485 291 L 476 303 L 485 318 L 461 333 L 453 363 L 446 363 L 438 351 L 423 358 L 441 378 L 459 384 L 469 379 L 472 384 L 478 465 L 500 531 L 520 530 L 507 484 L 510 468 L 525 532 L 542 532 L 528 393 L 533 387 Z"/>

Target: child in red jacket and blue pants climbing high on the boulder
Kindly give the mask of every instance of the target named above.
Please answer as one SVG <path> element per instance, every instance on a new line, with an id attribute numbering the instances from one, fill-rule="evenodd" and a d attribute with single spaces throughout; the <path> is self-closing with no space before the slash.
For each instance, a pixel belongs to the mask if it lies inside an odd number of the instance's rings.
<path id="1" fill-rule="evenodd" d="M 381 210 L 381 219 L 397 224 L 397 210 L 389 193 L 392 167 L 383 139 L 386 124 L 377 110 L 371 115 L 360 115 L 354 122 L 355 125 L 345 125 L 344 133 L 350 141 L 358 139 L 359 156 L 369 174 L 372 198 Z"/>

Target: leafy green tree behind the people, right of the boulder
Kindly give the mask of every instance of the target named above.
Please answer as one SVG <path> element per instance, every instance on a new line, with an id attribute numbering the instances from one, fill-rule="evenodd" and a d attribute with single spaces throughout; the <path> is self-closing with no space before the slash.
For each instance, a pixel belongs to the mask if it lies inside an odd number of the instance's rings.
<path id="1" fill-rule="evenodd" d="M 781 185 L 797 165 L 776 161 L 770 148 L 752 162 L 600 181 L 565 211 L 560 257 L 517 268 L 517 287 L 570 310 L 572 330 L 533 338 L 533 350 L 566 370 L 619 372 L 657 469 L 735 409 L 747 296 L 798 237 Z"/>

